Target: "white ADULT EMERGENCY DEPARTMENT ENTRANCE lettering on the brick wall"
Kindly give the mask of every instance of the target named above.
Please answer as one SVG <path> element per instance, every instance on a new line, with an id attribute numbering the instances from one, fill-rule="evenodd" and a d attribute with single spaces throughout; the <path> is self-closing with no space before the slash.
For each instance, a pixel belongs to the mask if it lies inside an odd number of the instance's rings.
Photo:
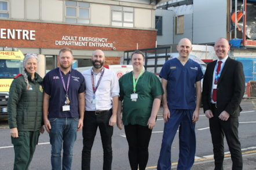
<path id="1" fill-rule="evenodd" d="M 109 47 L 112 48 L 114 42 L 109 43 L 108 38 L 84 37 L 84 36 L 62 36 L 61 40 L 56 40 L 57 46 L 89 46 L 89 47 Z"/>

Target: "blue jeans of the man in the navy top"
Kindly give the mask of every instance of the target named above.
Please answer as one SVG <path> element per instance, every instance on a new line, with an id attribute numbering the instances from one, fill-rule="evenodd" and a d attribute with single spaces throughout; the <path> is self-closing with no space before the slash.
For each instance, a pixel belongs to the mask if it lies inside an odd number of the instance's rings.
<path id="1" fill-rule="evenodd" d="M 78 118 L 50 118 L 50 144 L 52 145 L 52 169 L 61 169 L 61 147 L 63 146 L 62 169 L 71 169 L 73 146 L 78 130 Z"/>

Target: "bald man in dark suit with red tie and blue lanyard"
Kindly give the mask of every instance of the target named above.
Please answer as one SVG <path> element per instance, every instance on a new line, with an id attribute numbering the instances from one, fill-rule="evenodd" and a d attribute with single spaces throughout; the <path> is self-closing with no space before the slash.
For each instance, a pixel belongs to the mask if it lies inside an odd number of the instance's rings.
<path id="1" fill-rule="evenodd" d="M 202 102 L 209 118 L 215 170 L 223 169 L 224 134 L 231 152 L 232 170 L 243 169 L 238 116 L 245 80 L 242 63 L 228 56 L 229 49 L 228 40 L 217 39 L 214 50 L 218 60 L 207 65 L 203 80 Z"/>

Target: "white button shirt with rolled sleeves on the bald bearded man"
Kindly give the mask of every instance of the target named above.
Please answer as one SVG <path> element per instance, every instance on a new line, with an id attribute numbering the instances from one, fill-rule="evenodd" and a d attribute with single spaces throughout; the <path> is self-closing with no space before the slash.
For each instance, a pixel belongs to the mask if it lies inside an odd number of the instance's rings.
<path id="1" fill-rule="evenodd" d="M 85 77 L 85 110 L 86 111 L 95 111 L 95 110 L 109 110 L 112 109 L 112 97 L 119 96 L 119 82 L 118 77 L 115 75 L 114 71 L 111 71 L 107 68 L 103 68 L 104 73 L 101 78 L 100 84 L 95 93 L 96 104 L 92 103 L 93 99 L 93 83 L 94 88 L 96 88 L 98 80 L 100 79 L 101 73 L 93 73 L 93 69 L 83 71 L 82 75 Z"/>

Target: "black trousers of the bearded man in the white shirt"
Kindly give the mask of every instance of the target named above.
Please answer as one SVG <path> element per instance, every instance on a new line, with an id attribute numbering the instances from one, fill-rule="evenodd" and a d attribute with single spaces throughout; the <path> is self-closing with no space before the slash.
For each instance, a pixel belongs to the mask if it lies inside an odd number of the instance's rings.
<path id="1" fill-rule="evenodd" d="M 90 170 L 91 150 L 97 128 L 103 144 L 103 169 L 111 170 L 113 127 L 109 125 L 112 110 L 101 113 L 85 111 L 83 120 L 82 170 Z"/>

